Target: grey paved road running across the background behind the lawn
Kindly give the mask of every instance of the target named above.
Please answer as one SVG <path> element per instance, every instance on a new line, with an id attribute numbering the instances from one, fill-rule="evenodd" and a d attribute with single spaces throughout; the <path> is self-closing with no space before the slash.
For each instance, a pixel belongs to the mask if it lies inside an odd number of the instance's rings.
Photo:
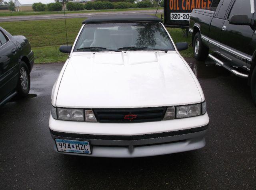
<path id="1" fill-rule="evenodd" d="M 162 14 L 163 10 L 158 10 L 158 14 Z M 120 15 L 120 14 L 155 14 L 156 10 L 130 10 L 118 12 L 89 12 L 89 13 L 72 13 L 66 14 L 66 18 L 85 18 L 96 15 Z M 62 19 L 64 14 L 51 15 L 31 15 L 31 16 L 6 16 L 0 17 L 0 22 L 24 21 L 24 20 L 46 20 L 46 19 Z"/>

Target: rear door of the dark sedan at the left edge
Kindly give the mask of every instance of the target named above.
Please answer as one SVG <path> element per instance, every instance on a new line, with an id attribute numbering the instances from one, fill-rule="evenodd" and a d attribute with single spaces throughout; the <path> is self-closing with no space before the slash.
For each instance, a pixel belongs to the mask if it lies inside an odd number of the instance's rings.
<path id="1" fill-rule="evenodd" d="M 0 30 L 0 102 L 15 88 L 18 81 L 16 46 Z"/>

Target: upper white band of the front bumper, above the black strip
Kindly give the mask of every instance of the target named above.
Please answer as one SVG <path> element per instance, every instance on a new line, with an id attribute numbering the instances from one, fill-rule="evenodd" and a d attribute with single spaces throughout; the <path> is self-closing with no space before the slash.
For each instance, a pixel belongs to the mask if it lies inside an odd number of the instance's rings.
<path id="1" fill-rule="evenodd" d="M 144 123 L 99 123 L 84 121 L 62 121 L 50 115 L 52 131 L 88 135 L 144 135 L 164 133 L 202 127 L 209 123 L 208 114 L 192 118 L 172 119 Z"/>

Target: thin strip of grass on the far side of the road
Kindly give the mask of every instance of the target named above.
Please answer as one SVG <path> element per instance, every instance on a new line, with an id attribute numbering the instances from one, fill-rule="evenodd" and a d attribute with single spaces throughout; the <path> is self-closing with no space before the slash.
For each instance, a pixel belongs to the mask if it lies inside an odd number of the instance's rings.
<path id="1" fill-rule="evenodd" d="M 159 8 L 158 10 L 162 10 Z M 117 11 L 129 11 L 129 10 L 156 10 L 156 8 L 130 8 L 130 9 L 108 9 L 108 10 L 82 10 L 82 11 L 66 11 L 66 14 L 69 13 L 90 13 L 90 12 L 117 12 Z M 35 12 L 35 11 L 24 11 L 24 12 L 0 12 L 1 16 L 30 16 L 30 15 L 46 15 L 46 14 L 64 14 L 64 11 L 56 12 Z"/>

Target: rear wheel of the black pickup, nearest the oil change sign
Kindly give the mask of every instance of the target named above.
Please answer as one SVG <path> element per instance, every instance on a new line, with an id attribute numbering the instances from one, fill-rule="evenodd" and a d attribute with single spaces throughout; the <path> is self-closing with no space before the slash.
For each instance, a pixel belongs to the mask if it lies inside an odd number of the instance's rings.
<path id="1" fill-rule="evenodd" d="M 196 33 L 194 37 L 193 45 L 194 57 L 196 58 L 196 60 L 206 60 L 209 53 L 209 48 L 202 43 L 201 35 L 199 32 Z"/>

